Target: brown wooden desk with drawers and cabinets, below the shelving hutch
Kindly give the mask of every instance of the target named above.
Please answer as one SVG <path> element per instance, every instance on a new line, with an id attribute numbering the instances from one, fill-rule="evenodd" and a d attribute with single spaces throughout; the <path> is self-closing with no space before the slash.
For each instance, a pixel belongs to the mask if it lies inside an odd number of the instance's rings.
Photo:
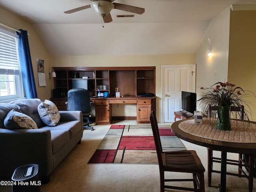
<path id="1" fill-rule="evenodd" d="M 67 110 L 65 102 L 68 98 L 50 98 L 59 110 Z M 96 124 L 110 124 L 112 121 L 112 104 L 137 104 L 137 123 L 150 124 L 149 116 L 156 110 L 156 97 L 124 96 L 91 98 L 95 104 Z"/>

